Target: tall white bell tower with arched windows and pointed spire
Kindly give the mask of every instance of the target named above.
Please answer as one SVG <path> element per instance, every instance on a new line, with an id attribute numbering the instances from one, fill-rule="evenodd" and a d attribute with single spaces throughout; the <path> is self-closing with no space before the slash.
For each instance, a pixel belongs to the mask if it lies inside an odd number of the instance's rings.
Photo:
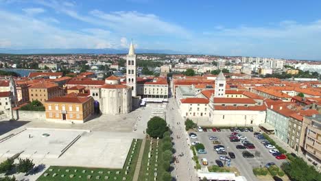
<path id="1" fill-rule="evenodd" d="M 130 43 L 130 49 L 127 55 L 127 70 L 126 70 L 126 84 L 132 88 L 132 96 L 135 97 L 137 93 L 137 83 L 136 83 L 136 55 L 134 51 L 134 45 Z"/>

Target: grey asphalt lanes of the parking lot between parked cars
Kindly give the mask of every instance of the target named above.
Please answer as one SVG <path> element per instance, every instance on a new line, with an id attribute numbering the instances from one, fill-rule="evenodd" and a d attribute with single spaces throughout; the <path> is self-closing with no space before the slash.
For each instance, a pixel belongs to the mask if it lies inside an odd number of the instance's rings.
<path id="1" fill-rule="evenodd" d="M 241 142 L 230 142 L 228 135 L 231 134 L 230 130 L 222 130 L 222 132 L 213 132 L 208 129 L 207 132 L 195 132 L 198 138 L 191 138 L 191 142 L 199 141 L 203 143 L 207 154 L 198 154 L 200 160 L 206 158 L 209 162 L 209 165 L 217 165 L 215 160 L 219 159 L 219 155 L 213 148 L 213 141 L 209 140 L 210 136 L 217 136 L 220 145 L 224 145 L 226 152 L 233 152 L 235 158 L 231 159 L 230 167 L 237 167 L 241 176 L 245 176 L 248 180 L 257 180 L 254 176 L 252 169 L 254 167 L 264 167 L 268 162 L 274 162 L 276 165 L 280 166 L 285 160 L 277 160 L 270 154 L 269 149 L 265 148 L 261 143 L 262 140 L 259 140 L 254 137 L 253 132 L 239 132 L 243 136 L 247 137 L 247 140 L 254 144 L 255 149 L 237 149 L 236 145 L 242 145 Z M 254 154 L 254 158 L 243 158 L 242 152 L 248 150 Z M 224 163 L 224 161 L 222 161 Z M 227 162 L 226 162 L 227 165 Z"/>

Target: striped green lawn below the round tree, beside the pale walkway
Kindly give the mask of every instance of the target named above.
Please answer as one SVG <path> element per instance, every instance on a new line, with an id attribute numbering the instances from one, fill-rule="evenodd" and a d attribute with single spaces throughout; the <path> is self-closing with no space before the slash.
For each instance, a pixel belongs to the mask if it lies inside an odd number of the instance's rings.
<path id="1" fill-rule="evenodd" d="M 163 180 L 163 174 L 166 172 L 165 169 L 163 168 L 163 152 L 162 152 L 162 140 L 159 139 L 158 142 L 158 162 L 156 163 L 156 139 L 153 139 L 153 145 L 152 145 L 152 154 L 151 154 L 151 158 L 150 158 L 150 166 L 147 166 L 147 162 L 148 162 L 148 153 L 150 152 L 150 143 L 151 140 L 150 138 L 147 138 L 146 140 L 146 145 L 145 145 L 145 149 L 144 149 L 144 154 L 143 154 L 143 160 L 141 162 L 141 170 L 139 173 L 139 181 L 145 181 L 145 180 L 154 180 L 154 172 L 156 172 L 154 169 L 157 168 L 157 180 Z M 157 167 L 155 166 L 155 164 L 157 164 Z M 147 170 L 147 167 L 149 168 L 149 170 Z M 148 176 L 147 176 L 148 173 Z"/>

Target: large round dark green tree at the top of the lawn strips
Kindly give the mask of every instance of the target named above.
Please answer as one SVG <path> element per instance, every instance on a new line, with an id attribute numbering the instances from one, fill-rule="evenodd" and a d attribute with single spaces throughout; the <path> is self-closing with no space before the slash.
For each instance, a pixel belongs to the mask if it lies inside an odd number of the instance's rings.
<path id="1" fill-rule="evenodd" d="M 166 121 L 160 117 L 152 117 L 147 123 L 147 134 L 153 138 L 163 138 L 164 132 L 168 130 Z"/>

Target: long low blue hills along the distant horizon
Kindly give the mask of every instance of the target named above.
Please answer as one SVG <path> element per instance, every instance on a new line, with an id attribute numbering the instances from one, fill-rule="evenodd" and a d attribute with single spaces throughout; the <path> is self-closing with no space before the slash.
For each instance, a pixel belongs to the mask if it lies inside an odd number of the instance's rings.
<path id="1" fill-rule="evenodd" d="M 135 49 L 136 53 L 187 54 L 187 52 L 168 49 Z M 128 49 L 0 49 L 0 53 L 10 54 L 119 54 L 128 53 Z"/>

